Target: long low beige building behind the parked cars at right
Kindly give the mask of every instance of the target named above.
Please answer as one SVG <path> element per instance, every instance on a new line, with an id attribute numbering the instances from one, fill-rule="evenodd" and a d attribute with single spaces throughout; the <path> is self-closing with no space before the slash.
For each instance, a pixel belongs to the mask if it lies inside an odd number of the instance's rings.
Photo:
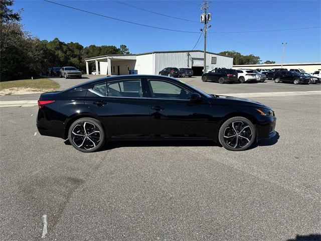
<path id="1" fill-rule="evenodd" d="M 281 64 L 252 64 L 252 65 L 233 65 L 233 69 L 273 69 L 281 68 Z M 304 69 L 306 72 L 314 72 L 321 69 L 321 63 L 285 63 L 284 69 Z"/>

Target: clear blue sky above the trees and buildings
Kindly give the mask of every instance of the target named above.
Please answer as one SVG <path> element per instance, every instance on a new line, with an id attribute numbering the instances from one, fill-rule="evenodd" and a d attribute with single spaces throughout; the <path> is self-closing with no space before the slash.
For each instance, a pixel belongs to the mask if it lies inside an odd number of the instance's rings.
<path id="1" fill-rule="evenodd" d="M 198 32 L 201 23 L 187 22 L 146 13 L 112 1 L 58 1 L 60 4 L 161 28 Z M 119 0 L 121 1 L 121 0 Z M 178 18 L 199 21 L 201 1 L 123 1 Z M 194 4 L 193 4 L 194 3 Z M 179 33 L 136 26 L 53 5 L 41 0 L 16 0 L 14 9 L 23 8 L 25 30 L 40 39 L 55 37 L 83 46 L 125 44 L 131 53 L 161 50 L 189 50 L 199 38 L 198 33 Z M 321 1 L 212 1 L 212 29 L 216 32 L 277 30 L 321 26 Z M 207 50 L 235 50 L 254 54 L 261 60 L 281 59 L 282 42 L 287 42 L 284 62 L 320 62 L 320 28 L 261 33 L 208 34 Z M 236 41 L 232 41 L 232 38 Z M 239 43 L 242 42 L 242 43 Z M 203 49 L 201 39 L 196 49 Z M 251 45 L 251 46 L 248 46 Z M 252 47 L 257 46 L 257 47 Z"/>

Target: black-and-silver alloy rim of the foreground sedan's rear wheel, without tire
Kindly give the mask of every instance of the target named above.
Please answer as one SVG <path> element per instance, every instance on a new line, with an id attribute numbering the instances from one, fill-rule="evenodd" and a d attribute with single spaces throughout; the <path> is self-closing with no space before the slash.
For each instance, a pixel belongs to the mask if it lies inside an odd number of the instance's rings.
<path id="1" fill-rule="evenodd" d="M 80 122 L 72 129 L 71 140 L 78 148 L 90 150 L 101 142 L 101 133 L 95 124 Z"/>

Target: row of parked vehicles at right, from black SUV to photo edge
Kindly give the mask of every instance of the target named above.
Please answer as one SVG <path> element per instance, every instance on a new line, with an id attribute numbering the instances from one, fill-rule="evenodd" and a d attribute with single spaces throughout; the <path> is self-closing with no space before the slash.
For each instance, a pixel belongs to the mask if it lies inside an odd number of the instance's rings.
<path id="1" fill-rule="evenodd" d="M 260 72 L 261 71 L 261 72 Z M 202 75 L 202 81 L 223 83 L 249 83 L 249 82 L 264 82 L 266 79 L 273 79 L 275 83 L 288 82 L 293 84 L 316 84 L 321 83 L 320 70 L 313 74 L 308 74 L 300 69 L 225 69 L 216 68 Z"/>

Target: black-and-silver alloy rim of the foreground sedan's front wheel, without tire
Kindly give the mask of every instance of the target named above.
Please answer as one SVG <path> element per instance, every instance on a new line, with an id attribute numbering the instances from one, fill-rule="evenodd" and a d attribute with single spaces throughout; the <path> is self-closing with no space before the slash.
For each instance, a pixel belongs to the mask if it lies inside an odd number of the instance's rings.
<path id="1" fill-rule="evenodd" d="M 252 130 L 242 121 L 230 123 L 224 130 L 224 142 L 233 149 L 246 147 L 252 140 Z"/>

